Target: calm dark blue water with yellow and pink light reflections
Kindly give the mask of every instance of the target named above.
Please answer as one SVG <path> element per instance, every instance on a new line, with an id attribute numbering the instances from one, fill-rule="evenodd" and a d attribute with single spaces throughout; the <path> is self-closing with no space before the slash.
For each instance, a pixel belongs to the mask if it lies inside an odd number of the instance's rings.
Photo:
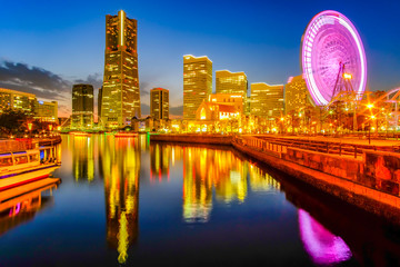
<path id="1" fill-rule="evenodd" d="M 399 264 L 399 228 L 230 148 L 66 135 L 59 150 L 57 189 L 0 206 L 0 266 Z"/>

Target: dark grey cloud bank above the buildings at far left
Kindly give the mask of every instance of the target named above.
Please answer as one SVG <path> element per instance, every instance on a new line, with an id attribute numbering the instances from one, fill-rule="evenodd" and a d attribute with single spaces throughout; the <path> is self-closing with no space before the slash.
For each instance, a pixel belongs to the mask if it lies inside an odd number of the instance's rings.
<path id="1" fill-rule="evenodd" d="M 71 82 L 39 67 L 3 60 L 0 61 L 0 87 L 34 93 L 39 98 L 66 100 Z"/>

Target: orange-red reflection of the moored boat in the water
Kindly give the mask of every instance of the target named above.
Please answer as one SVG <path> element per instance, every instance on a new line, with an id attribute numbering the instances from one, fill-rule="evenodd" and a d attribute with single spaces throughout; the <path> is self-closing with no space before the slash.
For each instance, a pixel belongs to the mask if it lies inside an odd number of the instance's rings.
<path id="1" fill-rule="evenodd" d="M 0 236 L 33 219 L 34 215 L 50 206 L 60 179 L 44 178 L 34 182 L 1 191 Z"/>

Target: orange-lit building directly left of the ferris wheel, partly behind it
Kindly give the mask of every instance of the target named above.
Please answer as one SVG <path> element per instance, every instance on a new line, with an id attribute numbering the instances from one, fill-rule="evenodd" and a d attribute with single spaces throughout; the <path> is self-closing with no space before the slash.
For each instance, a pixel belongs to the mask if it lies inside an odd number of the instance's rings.
<path id="1" fill-rule="evenodd" d="M 308 105 L 314 106 L 302 75 L 290 77 L 284 86 L 284 112 L 297 112 Z"/>

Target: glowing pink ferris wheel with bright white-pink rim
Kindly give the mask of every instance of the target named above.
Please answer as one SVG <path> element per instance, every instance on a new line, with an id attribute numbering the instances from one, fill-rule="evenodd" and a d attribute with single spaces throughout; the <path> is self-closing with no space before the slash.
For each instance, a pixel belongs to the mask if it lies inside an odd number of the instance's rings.
<path id="1" fill-rule="evenodd" d="M 318 106 L 328 105 L 344 81 L 357 98 L 366 89 L 367 59 L 362 41 L 351 21 L 340 12 L 327 10 L 311 19 L 302 36 L 301 67 Z"/>

